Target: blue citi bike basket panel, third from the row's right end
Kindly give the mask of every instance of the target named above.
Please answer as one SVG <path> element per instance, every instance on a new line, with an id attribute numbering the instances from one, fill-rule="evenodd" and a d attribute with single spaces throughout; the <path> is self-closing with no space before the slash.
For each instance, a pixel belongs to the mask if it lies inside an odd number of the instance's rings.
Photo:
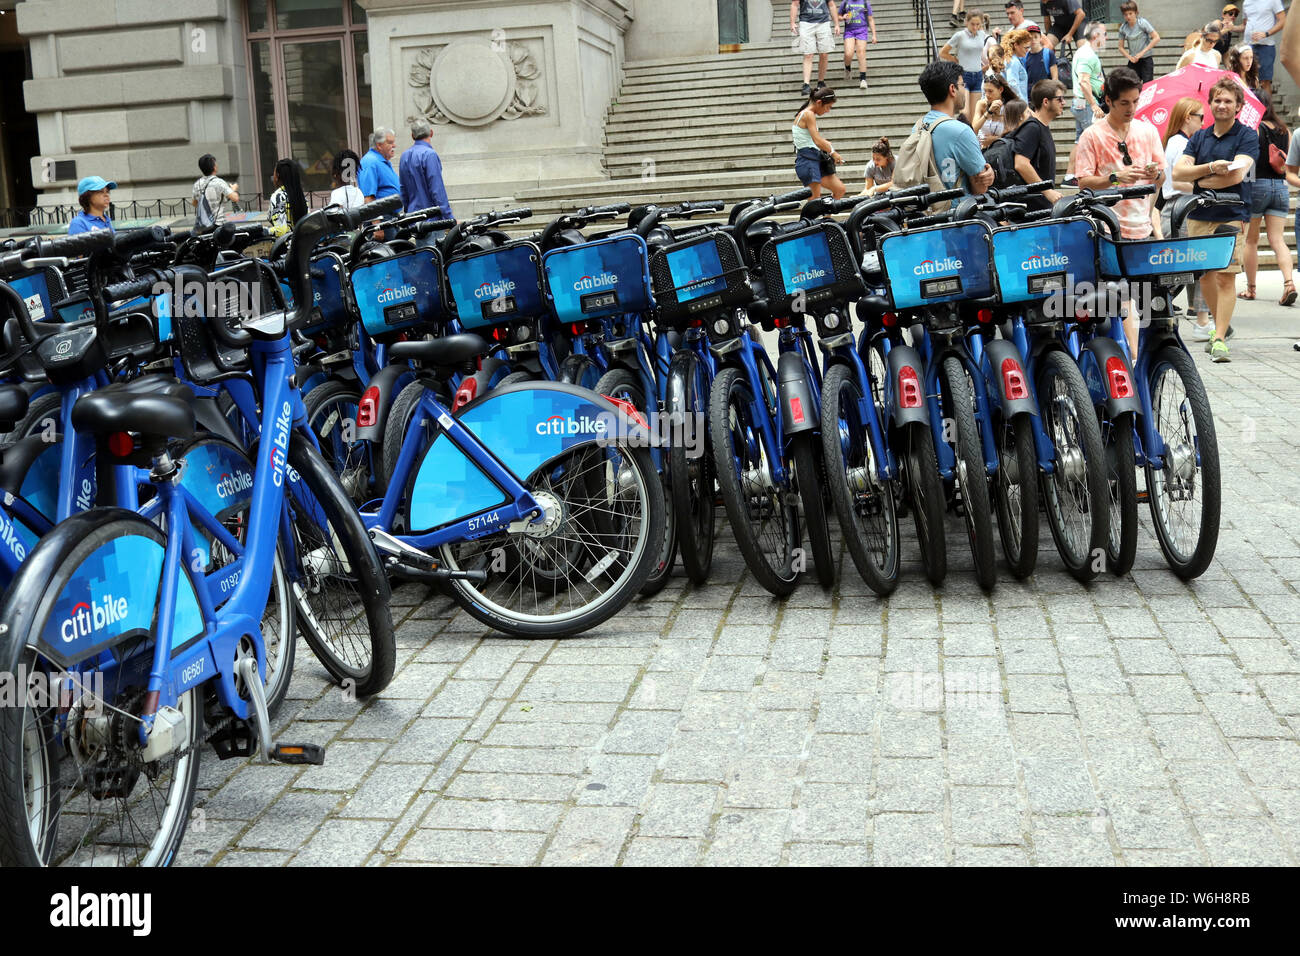
<path id="1" fill-rule="evenodd" d="M 894 308 L 922 308 L 993 294 L 989 229 L 983 222 L 890 233 L 880 239 L 880 265 Z"/>

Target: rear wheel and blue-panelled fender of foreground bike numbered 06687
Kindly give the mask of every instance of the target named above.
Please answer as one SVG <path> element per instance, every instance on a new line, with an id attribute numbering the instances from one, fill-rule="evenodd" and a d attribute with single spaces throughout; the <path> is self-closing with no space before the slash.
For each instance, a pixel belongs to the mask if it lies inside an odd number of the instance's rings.
<path id="1" fill-rule="evenodd" d="M 199 691 L 177 701 L 178 747 L 147 761 L 138 736 L 165 541 L 138 515 L 101 509 L 61 523 L 18 570 L 0 606 L 0 662 L 38 689 L 0 708 L 0 864 L 165 866 L 179 849 L 199 777 Z M 127 609 L 114 626 L 78 611 L 105 601 Z M 78 613 L 91 623 L 66 643 Z M 49 633 L 64 659 L 43 649 Z"/>

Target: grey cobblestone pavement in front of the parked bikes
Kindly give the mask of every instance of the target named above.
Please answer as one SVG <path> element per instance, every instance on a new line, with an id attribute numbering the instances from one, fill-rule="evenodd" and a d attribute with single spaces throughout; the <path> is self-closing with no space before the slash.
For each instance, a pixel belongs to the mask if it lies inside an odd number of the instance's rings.
<path id="1" fill-rule="evenodd" d="M 1136 570 L 1092 587 L 1044 529 L 992 597 L 950 544 L 942 591 L 913 545 L 887 602 L 846 554 L 779 602 L 725 527 L 707 587 L 580 639 L 489 637 L 403 587 L 393 685 L 347 701 L 300 645 L 280 724 L 325 766 L 204 754 L 181 861 L 1296 865 L 1300 328 L 1242 311 L 1232 364 L 1196 350 L 1225 489 L 1197 581 L 1144 509 Z"/>

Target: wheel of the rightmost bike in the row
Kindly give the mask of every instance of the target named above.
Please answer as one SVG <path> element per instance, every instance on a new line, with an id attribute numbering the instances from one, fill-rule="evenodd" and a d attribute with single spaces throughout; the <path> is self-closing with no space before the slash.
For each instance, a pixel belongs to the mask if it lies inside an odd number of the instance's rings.
<path id="1" fill-rule="evenodd" d="M 1192 358 L 1166 345 L 1150 367 L 1150 406 L 1165 441 L 1165 467 L 1147 466 L 1156 537 L 1183 580 L 1205 572 L 1218 546 L 1219 460 L 1214 415 Z"/>

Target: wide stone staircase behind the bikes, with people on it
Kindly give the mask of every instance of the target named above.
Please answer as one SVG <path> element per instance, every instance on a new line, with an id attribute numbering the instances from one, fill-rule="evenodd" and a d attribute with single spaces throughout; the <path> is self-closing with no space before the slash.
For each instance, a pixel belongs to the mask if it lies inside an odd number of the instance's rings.
<path id="1" fill-rule="evenodd" d="M 926 111 L 916 86 L 926 53 L 911 4 L 883 0 L 874 7 L 880 42 L 867 51 L 868 90 L 858 88 L 855 61 L 852 78 L 845 79 L 841 47 L 829 57 L 827 77 L 840 98 L 820 122 L 823 134 L 846 160 L 840 176 L 850 193 L 862 187 L 871 146 L 884 135 L 897 148 Z M 997 9 L 1001 16 L 1001 8 Z M 935 23 L 935 31 L 942 46 L 953 30 L 946 25 L 946 13 L 935 8 L 935 16 L 941 21 Z M 1182 36 L 1190 29 L 1170 29 L 1156 47 L 1156 75 L 1174 69 L 1182 55 Z M 533 219 L 514 230 L 530 232 L 567 209 L 590 203 L 722 199 L 729 206 L 798 187 L 790 125 L 802 101 L 802 61 L 790 51 L 785 0 L 772 3 L 771 36 L 768 42 L 748 44 L 738 53 L 628 64 L 606 120 L 608 179 L 529 189 L 491 199 L 452 196 L 458 212 L 529 206 Z M 1121 60 L 1115 42 L 1112 25 L 1102 52 L 1102 65 L 1110 69 Z M 1074 144 L 1069 113 L 1054 124 L 1053 133 L 1063 176 Z M 1294 248 L 1290 221 L 1286 235 Z M 1273 265 L 1273 260 L 1261 238 L 1261 265 Z"/>

